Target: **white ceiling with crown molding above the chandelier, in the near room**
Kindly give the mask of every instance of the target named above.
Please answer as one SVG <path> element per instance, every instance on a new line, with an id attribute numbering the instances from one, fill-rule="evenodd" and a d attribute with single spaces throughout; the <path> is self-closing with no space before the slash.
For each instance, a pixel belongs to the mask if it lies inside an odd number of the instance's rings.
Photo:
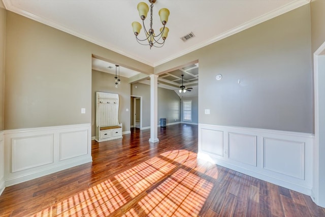
<path id="1" fill-rule="evenodd" d="M 147 0 L 142 1 L 149 4 Z M 3 0 L 9 11 L 153 67 L 308 4 L 309 0 L 157 0 L 153 7 L 153 28 L 157 32 L 161 27 L 158 10 L 168 8 L 170 17 L 166 26 L 170 32 L 163 48 L 151 50 L 138 44 L 133 34 L 131 23 L 141 21 L 137 11 L 139 2 Z M 180 38 L 190 32 L 196 37 L 183 42 Z"/>

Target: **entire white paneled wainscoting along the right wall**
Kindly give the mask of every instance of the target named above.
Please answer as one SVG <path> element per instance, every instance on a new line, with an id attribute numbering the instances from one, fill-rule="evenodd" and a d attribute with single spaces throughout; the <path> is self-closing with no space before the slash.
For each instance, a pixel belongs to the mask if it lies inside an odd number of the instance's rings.
<path id="1" fill-rule="evenodd" d="M 311 195 L 313 140 L 306 133 L 200 123 L 198 158 Z M 223 154 L 220 144 L 228 144 Z"/>

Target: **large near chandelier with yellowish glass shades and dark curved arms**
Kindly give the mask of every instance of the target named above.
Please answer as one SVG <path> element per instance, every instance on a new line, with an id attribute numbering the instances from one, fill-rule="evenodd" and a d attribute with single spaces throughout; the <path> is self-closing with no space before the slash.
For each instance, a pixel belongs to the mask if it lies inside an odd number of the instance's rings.
<path id="1" fill-rule="evenodd" d="M 160 16 L 160 21 L 163 24 L 163 27 L 161 27 L 159 30 L 159 34 L 155 35 L 154 34 L 154 30 L 152 28 L 152 8 L 153 8 L 153 4 L 156 2 L 156 0 L 149 0 L 149 2 L 151 3 L 150 5 L 150 28 L 149 30 L 147 30 L 145 24 L 144 24 L 144 20 L 147 17 L 148 11 L 149 11 L 149 7 L 146 3 L 144 2 L 140 2 L 138 4 L 138 11 L 139 11 L 139 15 L 140 18 L 142 19 L 142 25 L 146 34 L 145 39 L 139 39 L 138 35 L 140 33 L 140 30 L 142 28 L 141 24 L 137 21 L 132 23 L 132 27 L 133 27 L 133 32 L 134 35 L 136 35 L 136 39 L 137 42 L 139 44 L 142 45 L 149 45 L 150 49 L 151 47 L 163 47 L 165 44 L 165 40 L 168 36 L 168 32 L 169 32 L 169 28 L 167 28 L 165 25 L 168 21 L 168 16 L 169 16 L 169 10 L 167 8 L 161 8 L 159 10 L 159 16 Z M 161 40 L 162 39 L 162 40 Z M 146 43 L 146 41 L 148 41 Z"/>

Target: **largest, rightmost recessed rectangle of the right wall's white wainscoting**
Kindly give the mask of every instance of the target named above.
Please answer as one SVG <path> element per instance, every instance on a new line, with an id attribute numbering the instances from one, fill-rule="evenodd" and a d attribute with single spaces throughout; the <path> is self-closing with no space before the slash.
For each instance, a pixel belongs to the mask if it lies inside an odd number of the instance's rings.
<path id="1" fill-rule="evenodd" d="M 305 178 L 305 143 L 264 138 L 264 169 Z M 295 158 L 288 158 L 295 156 Z"/>

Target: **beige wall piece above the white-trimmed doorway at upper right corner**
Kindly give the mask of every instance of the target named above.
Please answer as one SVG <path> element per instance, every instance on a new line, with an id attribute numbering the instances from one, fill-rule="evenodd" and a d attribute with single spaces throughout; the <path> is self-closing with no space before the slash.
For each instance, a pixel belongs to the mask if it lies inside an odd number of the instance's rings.
<path id="1" fill-rule="evenodd" d="M 311 48 L 314 53 L 325 42 L 325 1 L 312 0 L 311 14 Z"/>

